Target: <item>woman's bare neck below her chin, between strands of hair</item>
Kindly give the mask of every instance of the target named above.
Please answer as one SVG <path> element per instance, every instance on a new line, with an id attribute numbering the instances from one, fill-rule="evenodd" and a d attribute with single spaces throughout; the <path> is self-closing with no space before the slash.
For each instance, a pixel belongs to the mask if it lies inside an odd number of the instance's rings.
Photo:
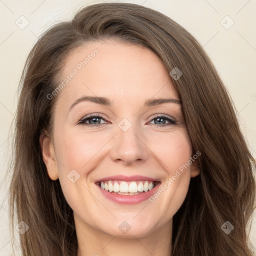
<path id="1" fill-rule="evenodd" d="M 170 256 L 172 219 L 140 237 L 109 235 L 84 222 L 75 228 L 77 256 Z"/>

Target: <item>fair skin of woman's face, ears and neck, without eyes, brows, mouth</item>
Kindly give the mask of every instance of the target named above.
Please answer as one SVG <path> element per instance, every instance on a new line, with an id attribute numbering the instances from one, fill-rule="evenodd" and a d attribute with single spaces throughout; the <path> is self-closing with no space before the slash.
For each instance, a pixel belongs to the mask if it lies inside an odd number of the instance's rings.
<path id="1" fill-rule="evenodd" d="M 63 77 L 94 48 L 99 52 L 57 95 L 52 134 L 41 135 L 48 175 L 59 178 L 74 213 L 77 255 L 170 255 L 172 217 L 185 199 L 190 177 L 200 172 L 197 160 L 154 202 L 120 205 L 104 197 L 94 181 L 122 174 L 145 175 L 163 184 L 190 159 L 181 104 L 142 107 L 151 98 L 179 99 L 178 92 L 155 53 L 114 40 L 76 48 L 66 59 Z M 82 101 L 69 111 L 83 95 L 107 97 L 112 106 Z M 77 124 L 89 114 L 100 114 L 103 119 L 94 122 L 101 126 Z M 153 118 L 161 114 L 177 124 L 163 126 L 169 123 L 166 119 L 159 124 Z M 127 131 L 118 126 L 123 118 L 131 123 Z M 72 169 L 80 175 L 74 183 L 67 178 Z M 126 233 L 118 228 L 123 221 L 131 227 Z"/>

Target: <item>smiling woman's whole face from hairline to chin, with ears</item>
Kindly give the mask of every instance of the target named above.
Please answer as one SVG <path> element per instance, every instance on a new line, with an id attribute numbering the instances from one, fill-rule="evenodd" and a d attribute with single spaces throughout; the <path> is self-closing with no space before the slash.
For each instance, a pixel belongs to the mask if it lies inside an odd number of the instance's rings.
<path id="1" fill-rule="evenodd" d="M 76 226 L 141 237 L 171 223 L 199 170 L 192 161 L 181 171 L 192 146 L 163 63 L 147 48 L 108 40 L 76 48 L 62 75 L 69 78 L 41 146 Z"/>

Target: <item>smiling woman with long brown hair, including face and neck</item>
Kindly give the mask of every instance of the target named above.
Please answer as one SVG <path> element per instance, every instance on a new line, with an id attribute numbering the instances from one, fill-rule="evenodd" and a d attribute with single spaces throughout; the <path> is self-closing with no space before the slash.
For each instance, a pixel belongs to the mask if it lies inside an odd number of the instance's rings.
<path id="1" fill-rule="evenodd" d="M 253 255 L 255 160 L 176 22 L 87 6 L 39 38 L 20 86 L 10 205 L 23 255 Z"/>

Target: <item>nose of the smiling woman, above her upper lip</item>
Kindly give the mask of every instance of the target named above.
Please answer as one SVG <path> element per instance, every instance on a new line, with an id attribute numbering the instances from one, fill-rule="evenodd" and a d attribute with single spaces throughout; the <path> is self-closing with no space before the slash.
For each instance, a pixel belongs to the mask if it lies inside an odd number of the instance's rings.
<path id="1" fill-rule="evenodd" d="M 133 125 L 126 131 L 118 130 L 110 152 L 113 161 L 131 165 L 133 162 L 143 162 L 148 158 L 149 149 L 136 133 L 137 129 Z"/>

